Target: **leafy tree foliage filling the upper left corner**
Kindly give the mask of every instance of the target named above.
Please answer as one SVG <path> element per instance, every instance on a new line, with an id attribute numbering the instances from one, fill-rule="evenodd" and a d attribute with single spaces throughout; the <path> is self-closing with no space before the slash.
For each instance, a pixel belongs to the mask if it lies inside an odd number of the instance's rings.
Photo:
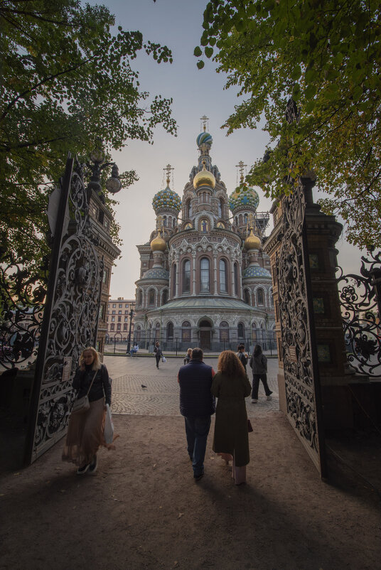
<path id="1" fill-rule="evenodd" d="M 0 247 L 31 270 L 48 252 L 45 209 L 68 151 L 85 159 L 100 137 L 109 156 L 157 124 L 176 132 L 171 100 L 150 100 L 130 65 L 139 50 L 171 62 L 170 50 L 112 26 L 105 6 L 80 0 L 0 3 Z"/>

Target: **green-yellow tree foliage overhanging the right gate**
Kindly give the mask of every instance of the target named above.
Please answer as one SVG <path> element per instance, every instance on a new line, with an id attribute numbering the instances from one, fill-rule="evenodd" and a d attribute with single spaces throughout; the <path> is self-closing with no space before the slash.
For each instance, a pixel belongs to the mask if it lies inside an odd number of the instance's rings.
<path id="1" fill-rule="evenodd" d="M 360 247 L 381 245 L 380 14 L 375 0 L 213 0 L 195 48 L 247 96 L 227 134 L 266 119 L 272 149 L 247 182 L 277 198 L 313 169 L 323 210 Z M 290 98 L 299 123 L 285 120 Z"/>

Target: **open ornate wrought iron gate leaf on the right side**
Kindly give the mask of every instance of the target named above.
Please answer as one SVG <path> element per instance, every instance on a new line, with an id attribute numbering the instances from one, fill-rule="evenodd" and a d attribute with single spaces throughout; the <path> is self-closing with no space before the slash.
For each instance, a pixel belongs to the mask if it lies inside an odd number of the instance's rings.
<path id="1" fill-rule="evenodd" d="M 277 280 L 287 416 L 321 477 L 325 477 L 303 180 L 291 195 L 282 200 L 282 208 L 284 217 Z"/>

